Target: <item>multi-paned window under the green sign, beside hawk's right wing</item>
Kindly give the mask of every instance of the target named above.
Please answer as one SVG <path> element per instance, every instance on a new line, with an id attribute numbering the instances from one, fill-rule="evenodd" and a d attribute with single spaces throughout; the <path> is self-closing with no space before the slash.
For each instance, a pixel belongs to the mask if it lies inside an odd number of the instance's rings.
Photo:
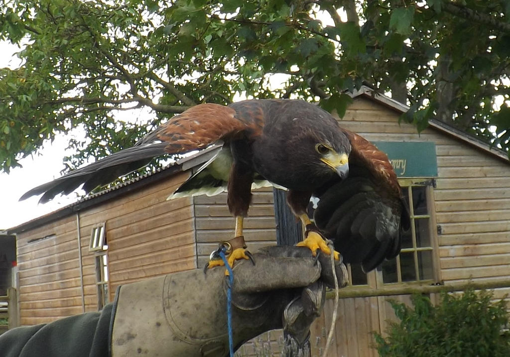
<path id="1" fill-rule="evenodd" d="M 402 236 L 400 254 L 380 268 L 382 283 L 409 283 L 435 278 L 433 268 L 434 235 L 431 215 L 433 180 L 402 180 L 402 193 L 409 202 L 411 230 Z"/>

